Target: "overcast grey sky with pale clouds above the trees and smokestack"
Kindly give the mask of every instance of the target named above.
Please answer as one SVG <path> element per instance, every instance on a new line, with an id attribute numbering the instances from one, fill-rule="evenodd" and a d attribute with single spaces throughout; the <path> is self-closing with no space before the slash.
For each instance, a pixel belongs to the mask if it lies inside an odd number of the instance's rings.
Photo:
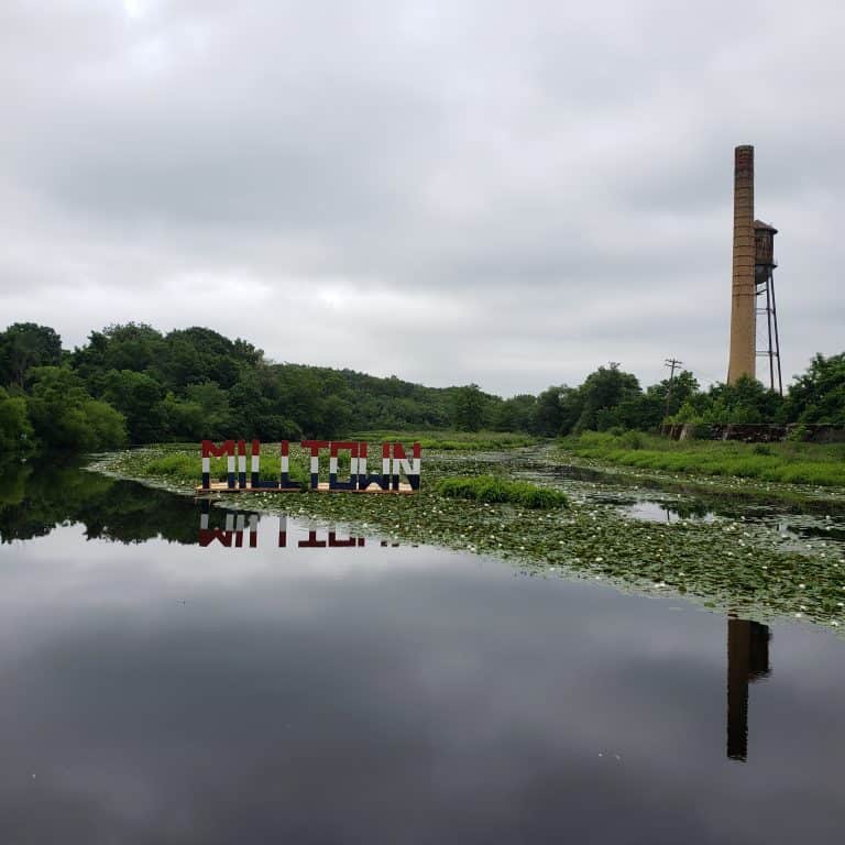
<path id="1" fill-rule="evenodd" d="M 751 143 L 791 378 L 845 349 L 844 33 L 842 0 L 2 0 L 0 327 L 706 384 Z"/>

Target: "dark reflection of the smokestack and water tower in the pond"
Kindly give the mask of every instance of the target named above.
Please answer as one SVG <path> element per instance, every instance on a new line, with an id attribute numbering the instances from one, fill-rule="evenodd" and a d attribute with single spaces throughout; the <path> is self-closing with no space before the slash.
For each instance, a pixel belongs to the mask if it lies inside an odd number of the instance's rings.
<path id="1" fill-rule="evenodd" d="M 748 682 L 769 673 L 769 628 L 747 619 L 727 621 L 727 756 L 748 754 Z"/>

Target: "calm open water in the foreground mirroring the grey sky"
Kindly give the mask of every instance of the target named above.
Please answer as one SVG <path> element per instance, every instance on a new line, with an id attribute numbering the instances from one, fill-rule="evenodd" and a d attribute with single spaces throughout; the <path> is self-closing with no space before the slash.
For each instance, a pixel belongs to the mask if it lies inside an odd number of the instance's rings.
<path id="1" fill-rule="evenodd" d="M 826 630 L 73 468 L 0 490 L 0 842 L 842 841 Z"/>

